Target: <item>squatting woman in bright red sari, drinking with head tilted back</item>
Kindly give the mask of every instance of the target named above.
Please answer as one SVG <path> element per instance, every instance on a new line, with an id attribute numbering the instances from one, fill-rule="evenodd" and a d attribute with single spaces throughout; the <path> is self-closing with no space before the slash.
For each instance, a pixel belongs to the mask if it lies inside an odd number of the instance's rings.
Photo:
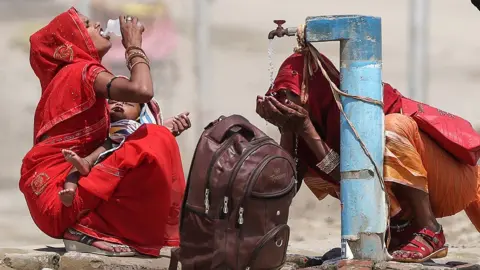
<path id="1" fill-rule="evenodd" d="M 153 97 L 138 19 L 120 17 L 130 79 L 100 63 L 110 49 L 98 23 L 71 8 L 31 38 L 30 62 L 42 95 L 34 120 L 34 146 L 23 159 L 20 190 L 35 224 L 64 238 L 67 250 L 112 256 L 158 256 L 179 244 L 178 217 L 185 187 L 171 132 L 142 125 L 123 147 L 81 177 L 71 207 L 58 192 L 72 166 L 61 150 L 91 153 L 107 137 L 106 99 L 146 103 Z"/>

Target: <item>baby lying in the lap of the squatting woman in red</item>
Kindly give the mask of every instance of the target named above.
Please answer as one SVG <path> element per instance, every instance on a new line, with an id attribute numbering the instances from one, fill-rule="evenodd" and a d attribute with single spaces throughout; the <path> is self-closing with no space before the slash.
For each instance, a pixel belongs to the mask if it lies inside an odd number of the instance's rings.
<path id="1" fill-rule="evenodd" d="M 73 198 L 75 197 L 78 186 L 77 183 L 79 180 L 78 173 L 80 175 L 88 175 L 100 156 L 103 158 L 105 154 L 116 150 L 116 148 L 123 143 L 126 137 L 135 132 L 135 130 L 142 125 L 140 123 L 140 116 L 143 108 L 142 106 L 148 106 L 147 104 L 141 105 L 139 103 L 120 102 L 114 100 L 109 100 L 108 104 L 110 109 L 111 125 L 110 135 L 107 140 L 105 140 L 105 143 L 84 158 L 78 156 L 72 150 L 62 150 L 65 159 L 74 167 L 67 176 L 67 180 L 63 186 L 64 189 L 59 192 L 60 200 L 67 207 L 72 205 Z M 181 131 L 190 128 L 190 120 L 188 119 L 188 115 L 189 113 L 180 114 L 175 117 L 174 120 L 167 120 L 168 123 L 166 121 L 164 125 L 171 130 L 173 126 L 176 126 L 176 128 L 180 130 L 175 130 L 172 132 L 174 135 L 179 135 Z M 172 125 L 172 127 L 169 127 L 169 125 Z M 105 154 L 102 155 L 103 153 Z"/>

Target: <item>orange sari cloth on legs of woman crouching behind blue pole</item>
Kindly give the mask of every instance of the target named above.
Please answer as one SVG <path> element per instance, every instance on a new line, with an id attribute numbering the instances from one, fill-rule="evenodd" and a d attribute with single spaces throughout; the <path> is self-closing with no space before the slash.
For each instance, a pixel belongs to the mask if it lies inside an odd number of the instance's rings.
<path id="1" fill-rule="evenodd" d="M 390 199 L 390 215 L 402 207 L 392 192 L 392 183 L 409 186 L 429 194 L 437 218 L 465 210 L 480 231 L 480 192 L 478 166 L 458 162 L 418 129 L 416 122 L 402 114 L 385 116 L 384 179 Z M 340 188 L 323 180 L 313 170 L 305 184 L 319 199 L 339 198 Z M 409 212 L 409 209 L 403 209 Z"/>

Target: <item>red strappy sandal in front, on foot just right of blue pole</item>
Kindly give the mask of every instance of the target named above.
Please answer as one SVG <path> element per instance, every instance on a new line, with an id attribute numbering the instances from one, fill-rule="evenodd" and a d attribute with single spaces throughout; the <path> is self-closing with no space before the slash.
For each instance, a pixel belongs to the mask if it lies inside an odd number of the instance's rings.
<path id="1" fill-rule="evenodd" d="M 445 245 L 446 240 L 442 227 L 440 227 L 438 232 L 423 228 L 415 236 L 400 250 L 393 252 L 394 261 L 422 263 L 430 259 L 439 259 L 447 256 L 448 246 Z"/>

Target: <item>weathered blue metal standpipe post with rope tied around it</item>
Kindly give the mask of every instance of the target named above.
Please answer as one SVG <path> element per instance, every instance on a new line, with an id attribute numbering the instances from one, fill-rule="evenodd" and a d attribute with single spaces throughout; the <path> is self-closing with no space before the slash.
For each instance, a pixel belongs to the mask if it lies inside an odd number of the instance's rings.
<path id="1" fill-rule="evenodd" d="M 309 17 L 307 42 L 340 41 L 340 89 L 383 100 L 382 31 L 376 17 L 339 15 Z M 383 174 L 384 114 L 374 104 L 342 97 L 346 115 Z M 342 255 L 384 261 L 387 203 L 375 167 L 352 129 L 340 117 Z M 349 257 L 352 258 L 352 257 Z"/>

